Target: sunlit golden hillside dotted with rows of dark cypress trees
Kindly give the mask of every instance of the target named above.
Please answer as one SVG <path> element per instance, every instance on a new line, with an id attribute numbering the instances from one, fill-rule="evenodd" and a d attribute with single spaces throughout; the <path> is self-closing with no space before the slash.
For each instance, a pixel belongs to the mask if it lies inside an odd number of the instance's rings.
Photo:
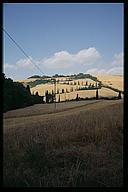
<path id="1" fill-rule="evenodd" d="M 39 78 L 29 78 L 27 80 L 20 81 L 24 84 L 30 85 L 30 90 L 32 94 L 35 94 L 37 91 L 39 95 L 45 96 L 46 91 L 49 93 L 54 91 L 54 83 L 51 80 L 52 77 L 41 79 Z M 56 84 L 56 101 L 65 101 L 75 99 L 77 94 L 80 98 L 91 98 L 95 97 L 96 90 L 88 89 L 88 90 L 80 90 L 85 87 L 96 86 L 96 82 L 101 82 L 102 87 L 99 89 L 99 97 L 116 97 L 118 96 L 118 90 L 123 91 L 123 77 L 114 76 L 114 75 L 100 75 L 97 77 L 91 76 L 89 74 L 80 73 L 78 75 L 71 76 L 63 76 L 63 77 L 55 77 Z M 44 82 L 45 80 L 45 82 Z M 86 86 L 87 84 L 87 86 Z M 108 86 L 108 87 L 107 87 Z M 112 89 L 110 89 L 112 88 Z M 62 93 L 62 89 L 64 89 L 64 93 Z M 117 89 L 117 91 L 115 91 Z M 60 95 L 60 96 L 59 96 Z M 123 97 L 123 95 L 122 95 Z M 45 98 L 44 98 L 45 99 Z"/>

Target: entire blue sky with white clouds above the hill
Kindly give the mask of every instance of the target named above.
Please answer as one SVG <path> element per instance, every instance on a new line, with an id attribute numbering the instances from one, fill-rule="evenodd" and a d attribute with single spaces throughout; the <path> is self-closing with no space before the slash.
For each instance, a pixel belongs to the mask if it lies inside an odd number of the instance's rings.
<path id="1" fill-rule="evenodd" d="M 30 59 L 3 32 L 3 72 L 123 75 L 123 21 L 123 3 L 4 3 L 3 28 Z"/>

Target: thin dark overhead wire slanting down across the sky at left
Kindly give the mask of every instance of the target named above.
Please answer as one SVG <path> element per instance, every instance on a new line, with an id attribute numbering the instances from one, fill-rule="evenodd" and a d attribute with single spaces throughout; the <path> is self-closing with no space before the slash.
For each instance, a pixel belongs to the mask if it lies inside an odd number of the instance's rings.
<path id="1" fill-rule="evenodd" d="M 21 52 L 31 61 L 31 63 L 42 73 L 44 72 L 36 65 L 33 60 L 28 56 L 28 54 L 23 50 L 23 48 L 11 37 L 11 35 L 3 28 L 3 31 L 6 33 L 6 35 L 15 43 L 15 45 L 21 50 Z"/>

